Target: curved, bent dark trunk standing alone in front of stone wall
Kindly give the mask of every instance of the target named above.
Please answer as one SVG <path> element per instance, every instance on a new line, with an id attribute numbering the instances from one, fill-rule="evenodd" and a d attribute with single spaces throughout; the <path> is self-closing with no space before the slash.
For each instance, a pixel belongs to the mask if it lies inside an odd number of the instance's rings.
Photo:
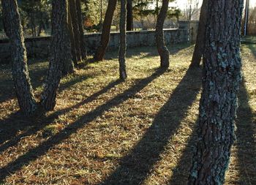
<path id="1" fill-rule="evenodd" d="M 169 64 L 170 53 L 165 45 L 165 36 L 163 31 L 163 26 L 165 23 L 165 18 L 168 10 L 168 4 L 169 4 L 169 0 L 162 0 L 162 7 L 157 18 L 157 26 L 156 26 L 157 50 L 161 58 L 162 68 L 168 68 L 170 65 Z"/>

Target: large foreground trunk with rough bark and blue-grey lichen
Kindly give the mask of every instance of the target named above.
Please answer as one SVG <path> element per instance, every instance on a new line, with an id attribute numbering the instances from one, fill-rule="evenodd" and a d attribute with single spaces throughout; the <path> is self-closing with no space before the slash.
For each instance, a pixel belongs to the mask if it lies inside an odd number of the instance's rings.
<path id="1" fill-rule="evenodd" d="M 224 184 L 241 80 L 242 0 L 208 1 L 198 140 L 188 184 Z"/>

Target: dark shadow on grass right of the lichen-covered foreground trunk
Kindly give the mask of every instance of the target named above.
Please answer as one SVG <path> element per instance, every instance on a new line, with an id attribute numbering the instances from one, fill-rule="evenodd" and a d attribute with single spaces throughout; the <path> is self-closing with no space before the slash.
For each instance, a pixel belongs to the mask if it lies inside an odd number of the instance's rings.
<path id="1" fill-rule="evenodd" d="M 245 83 L 241 84 L 236 120 L 239 184 L 256 184 L 256 113 L 249 106 Z"/>

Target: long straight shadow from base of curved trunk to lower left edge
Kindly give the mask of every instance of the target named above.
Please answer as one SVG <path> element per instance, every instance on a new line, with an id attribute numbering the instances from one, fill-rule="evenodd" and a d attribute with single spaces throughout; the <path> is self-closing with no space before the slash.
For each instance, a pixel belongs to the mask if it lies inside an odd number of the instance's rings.
<path id="1" fill-rule="evenodd" d="M 0 182 L 3 181 L 4 178 L 6 178 L 11 173 L 15 173 L 16 170 L 20 170 L 20 168 L 23 167 L 23 165 L 27 165 L 29 164 L 29 162 L 34 161 L 39 156 L 44 155 L 50 148 L 61 143 L 62 140 L 67 139 L 70 135 L 72 135 L 72 133 L 77 132 L 78 129 L 84 127 L 86 124 L 89 124 L 89 122 L 93 121 L 98 116 L 101 116 L 102 113 L 104 113 L 106 110 L 109 110 L 111 107 L 115 107 L 121 104 L 122 102 L 126 101 L 130 97 L 133 97 L 143 88 L 145 88 L 148 85 L 148 83 L 151 83 L 152 80 L 158 78 L 164 72 L 164 70 L 158 69 L 157 72 L 154 72 L 154 74 L 150 77 L 145 78 L 143 80 L 138 80 L 138 82 L 135 83 L 135 86 L 132 86 L 131 88 L 124 91 L 122 94 L 119 94 L 113 99 L 110 99 L 105 104 L 100 105 L 94 110 L 91 110 L 89 113 L 86 113 L 77 121 L 75 121 L 72 124 L 69 124 L 66 128 L 62 129 L 56 135 L 53 135 L 48 140 L 41 143 L 39 146 L 31 148 L 26 154 L 23 154 L 22 156 L 19 156 L 18 159 L 15 159 L 14 162 L 10 162 L 5 167 L 2 167 L 0 169 Z"/>

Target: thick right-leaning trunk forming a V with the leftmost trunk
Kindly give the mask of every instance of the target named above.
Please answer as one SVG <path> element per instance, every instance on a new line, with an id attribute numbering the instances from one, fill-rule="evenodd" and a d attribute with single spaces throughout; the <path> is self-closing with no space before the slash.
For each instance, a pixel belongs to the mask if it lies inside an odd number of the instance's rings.
<path id="1" fill-rule="evenodd" d="M 61 80 L 64 62 L 71 61 L 69 33 L 67 26 L 67 0 L 53 0 L 52 40 L 50 44 L 50 66 L 41 105 L 45 110 L 53 110 Z"/>

